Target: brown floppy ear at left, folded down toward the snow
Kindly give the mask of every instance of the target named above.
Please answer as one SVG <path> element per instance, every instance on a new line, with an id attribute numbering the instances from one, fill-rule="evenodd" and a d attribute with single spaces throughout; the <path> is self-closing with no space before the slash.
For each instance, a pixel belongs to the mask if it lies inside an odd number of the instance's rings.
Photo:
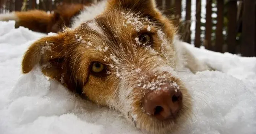
<path id="1" fill-rule="evenodd" d="M 23 73 L 29 73 L 37 64 L 42 69 L 50 68 L 56 71 L 65 56 L 63 54 L 64 37 L 65 33 L 59 33 L 58 35 L 44 37 L 34 42 L 23 57 Z M 46 73 L 49 73 L 49 71 L 46 71 Z"/>

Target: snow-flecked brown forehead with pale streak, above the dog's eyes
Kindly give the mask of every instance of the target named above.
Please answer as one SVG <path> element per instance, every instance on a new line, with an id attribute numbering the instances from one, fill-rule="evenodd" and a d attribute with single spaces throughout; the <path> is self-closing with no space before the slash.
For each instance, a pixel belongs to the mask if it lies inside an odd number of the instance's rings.
<path id="1" fill-rule="evenodd" d="M 94 47 L 108 46 L 118 49 L 120 44 L 132 45 L 143 32 L 153 32 L 155 25 L 147 17 L 131 11 L 109 11 L 76 28 L 78 41 L 90 41 Z M 127 47 L 127 46 L 126 46 Z"/>

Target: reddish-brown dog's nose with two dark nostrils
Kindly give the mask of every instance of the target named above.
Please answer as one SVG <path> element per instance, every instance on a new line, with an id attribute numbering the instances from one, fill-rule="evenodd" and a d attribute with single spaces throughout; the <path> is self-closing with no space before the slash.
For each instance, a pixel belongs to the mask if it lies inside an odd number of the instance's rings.
<path id="1" fill-rule="evenodd" d="M 182 93 L 177 88 L 155 90 L 146 94 L 143 107 L 158 120 L 175 118 L 182 106 Z"/>

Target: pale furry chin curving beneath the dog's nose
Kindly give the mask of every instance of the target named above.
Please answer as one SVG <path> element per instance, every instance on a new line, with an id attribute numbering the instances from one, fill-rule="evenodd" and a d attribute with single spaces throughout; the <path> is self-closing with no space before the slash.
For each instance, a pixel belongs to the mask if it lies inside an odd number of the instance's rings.
<path id="1" fill-rule="evenodd" d="M 145 112 L 141 104 L 141 98 L 133 98 L 131 109 L 126 118 L 142 132 L 149 134 L 170 134 L 183 128 L 191 117 L 191 96 L 186 89 L 183 90 L 183 105 L 175 118 L 158 120 L 154 115 Z"/>

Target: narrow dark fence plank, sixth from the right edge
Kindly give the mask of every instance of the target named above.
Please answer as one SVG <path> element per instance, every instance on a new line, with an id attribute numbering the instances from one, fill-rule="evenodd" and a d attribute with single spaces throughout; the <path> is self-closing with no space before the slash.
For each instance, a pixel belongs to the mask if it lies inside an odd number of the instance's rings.
<path id="1" fill-rule="evenodd" d="M 191 0 L 186 0 L 186 36 L 184 41 L 191 43 Z"/>

